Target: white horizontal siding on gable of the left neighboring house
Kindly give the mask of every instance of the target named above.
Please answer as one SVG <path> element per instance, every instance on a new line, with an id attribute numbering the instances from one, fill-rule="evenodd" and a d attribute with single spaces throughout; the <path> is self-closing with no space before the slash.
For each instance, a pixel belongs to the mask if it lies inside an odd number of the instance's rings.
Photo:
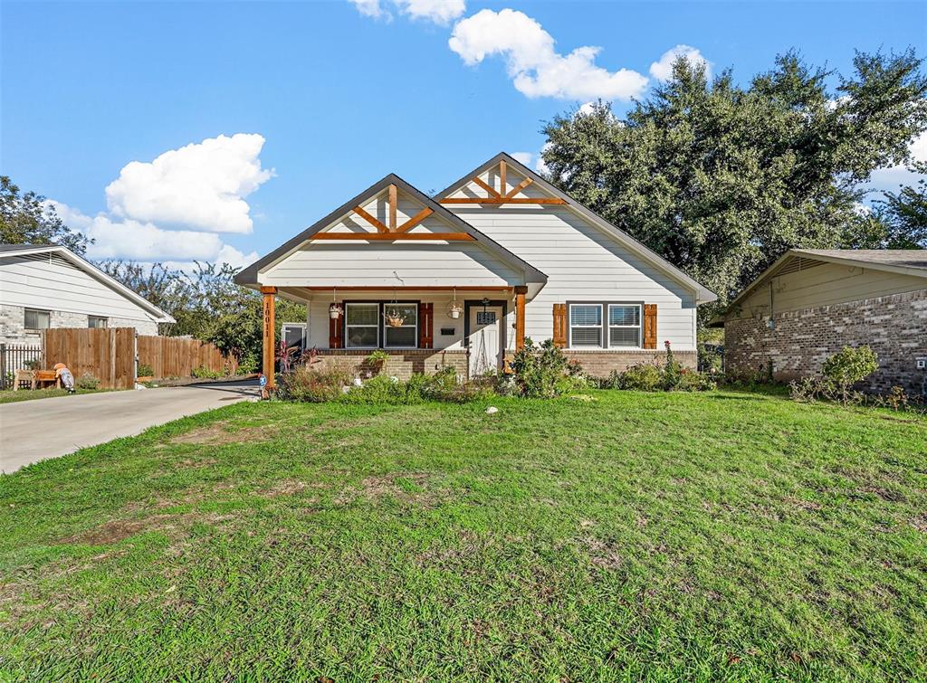
<path id="1" fill-rule="evenodd" d="M 145 309 L 78 268 L 15 257 L 0 258 L 0 303 L 107 318 L 153 320 Z"/>

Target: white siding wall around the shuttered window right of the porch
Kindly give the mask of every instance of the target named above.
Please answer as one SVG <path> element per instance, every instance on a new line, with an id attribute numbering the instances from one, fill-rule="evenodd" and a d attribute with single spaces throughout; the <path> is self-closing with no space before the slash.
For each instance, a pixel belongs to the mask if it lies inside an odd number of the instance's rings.
<path id="1" fill-rule="evenodd" d="M 491 177 L 492 180 L 495 176 Z M 489 182 L 484 176 L 484 180 Z M 510 185 L 521 181 L 518 176 Z M 531 192 L 534 190 L 534 192 Z M 529 185 L 520 196 L 541 196 Z M 475 184 L 453 196 L 485 196 Z M 657 346 L 696 347 L 696 293 L 599 226 L 565 205 L 447 204 L 448 209 L 547 275 L 547 285 L 526 307 L 526 335 L 552 336 L 555 303 L 603 301 L 656 304 Z"/>

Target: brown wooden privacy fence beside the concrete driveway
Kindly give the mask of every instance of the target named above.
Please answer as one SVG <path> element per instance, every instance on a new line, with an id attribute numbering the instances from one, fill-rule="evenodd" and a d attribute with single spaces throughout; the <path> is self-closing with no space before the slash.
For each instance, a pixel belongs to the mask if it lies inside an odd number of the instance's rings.
<path id="1" fill-rule="evenodd" d="M 109 389 L 135 386 L 138 365 L 151 367 L 152 376 L 191 377 L 202 368 L 210 373 L 235 373 L 235 360 L 198 339 L 136 335 L 133 327 L 109 329 L 57 328 L 42 333 L 43 365 L 62 362 L 75 379 L 84 373 Z"/>

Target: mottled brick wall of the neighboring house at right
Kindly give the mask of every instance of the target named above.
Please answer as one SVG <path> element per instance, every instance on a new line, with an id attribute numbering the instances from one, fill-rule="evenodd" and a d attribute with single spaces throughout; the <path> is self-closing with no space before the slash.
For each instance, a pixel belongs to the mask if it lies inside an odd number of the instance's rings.
<path id="1" fill-rule="evenodd" d="M 904 386 L 920 393 L 923 371 L 915 359 L 927 357 L 927 289 L 813 309 L 790 310 L 767 318 L 728 318 L 724 323 L 725 367 L 730 373 L 766 370 L 788 381 L 820 372 L 828 356 L 844 346 L 869 345 L 879 356 L 879 372 L 859 388 L 883 392 Z"/>

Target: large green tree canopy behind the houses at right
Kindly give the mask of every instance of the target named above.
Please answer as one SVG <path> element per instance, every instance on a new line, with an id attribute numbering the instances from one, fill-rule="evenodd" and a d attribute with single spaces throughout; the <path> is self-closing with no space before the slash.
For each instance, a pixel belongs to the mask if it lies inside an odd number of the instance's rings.
<path id="1" fill-rule="evenodd" d="M 862 183 L 910 160 L 925 95 L 913 51 L 857 53 L 845 78 L 788 53 L 746 87 L 680 58 L 624 119 L 599 102 L 548 122 L 542 157 L 553 183 L 723 305 L 790 247 L 886 241 L 881 217 L 900 209 L 862 209 Z"/>

